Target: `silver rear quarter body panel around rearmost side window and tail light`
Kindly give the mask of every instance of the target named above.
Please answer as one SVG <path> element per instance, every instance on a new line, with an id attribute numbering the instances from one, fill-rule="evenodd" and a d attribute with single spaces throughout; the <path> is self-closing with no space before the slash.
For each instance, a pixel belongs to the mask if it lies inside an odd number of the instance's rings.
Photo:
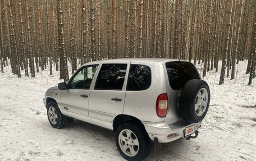
<path id="1" fill-rule="evenodd" d="M 131 64 L 146 65 L 152 73 L 151 85 L 147 90 L 126 91 L 124 114 L 134 116 L 141 121 L 162 122 L 156 113 L 156 100 L 159 94 L 166 93 L 166 79 L 162 63 L 137 62 Z"/>

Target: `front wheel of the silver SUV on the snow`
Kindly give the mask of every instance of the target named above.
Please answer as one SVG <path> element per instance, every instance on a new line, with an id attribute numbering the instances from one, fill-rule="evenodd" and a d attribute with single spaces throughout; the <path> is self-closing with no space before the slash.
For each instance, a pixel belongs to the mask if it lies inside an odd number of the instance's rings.
<path id="1" fill-rule="evenodd" d="M 47 104 L 47 116 L 49 123 L 52 125 L 52 127 L 63 127 L 63 115 L 55 102 L 49 102 Z"/>

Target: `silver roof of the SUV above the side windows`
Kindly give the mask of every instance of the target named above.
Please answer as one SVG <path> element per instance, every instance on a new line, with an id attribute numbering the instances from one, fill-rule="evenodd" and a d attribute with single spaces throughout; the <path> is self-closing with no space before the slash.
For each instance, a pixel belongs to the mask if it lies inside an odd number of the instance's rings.
<path id="1" fill-rule="evenodd" d="M 166 59 L 166 58 L 117 58 L 117 59 L 104 59 L 101 61 L 94 61 L 94 62 L 89 62 L 85 63 L 83 66 L 88 66 L 88 65 L 95 65 L 95 64 L 100 64 L 100 63 L 130 63 L 130 62 L 149 62 L 149 63 L 165 63 L 165 62 L 172 62 L 172 61 L 184 61 L 181 59 Z"/>

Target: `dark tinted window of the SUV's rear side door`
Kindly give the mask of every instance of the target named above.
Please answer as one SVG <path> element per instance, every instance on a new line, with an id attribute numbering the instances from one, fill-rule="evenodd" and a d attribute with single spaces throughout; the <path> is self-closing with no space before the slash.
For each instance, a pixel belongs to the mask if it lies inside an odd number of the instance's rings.
<path id="1" fill-rule="evenodd" d="M 122 90 L 127 64 L 103 64 L 95 84 L 97 90 Z"/>

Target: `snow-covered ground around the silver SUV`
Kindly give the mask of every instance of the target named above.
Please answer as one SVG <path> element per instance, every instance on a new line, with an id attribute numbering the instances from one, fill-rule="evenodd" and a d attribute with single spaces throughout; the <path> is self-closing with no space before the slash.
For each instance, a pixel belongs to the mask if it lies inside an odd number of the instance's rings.
<path id="1" fill-rule="evenodd" d="M 211 104 L 198 138 L 163 144 L 157 153 L 152 147 L 145 160 L 256 160 L 256 80 L 247 85 L 246 64 L 223 85 L 219 73 L 204 77 Z M 48 69 L 35 78 L 22 71 L 17 79 L 10 67 L 0 73 L 0 160 L 124 160 L 112 131 L 77 120 L 60 130 L 51 127 L 42 99 L 61 82 L 58 77 Z"/>

